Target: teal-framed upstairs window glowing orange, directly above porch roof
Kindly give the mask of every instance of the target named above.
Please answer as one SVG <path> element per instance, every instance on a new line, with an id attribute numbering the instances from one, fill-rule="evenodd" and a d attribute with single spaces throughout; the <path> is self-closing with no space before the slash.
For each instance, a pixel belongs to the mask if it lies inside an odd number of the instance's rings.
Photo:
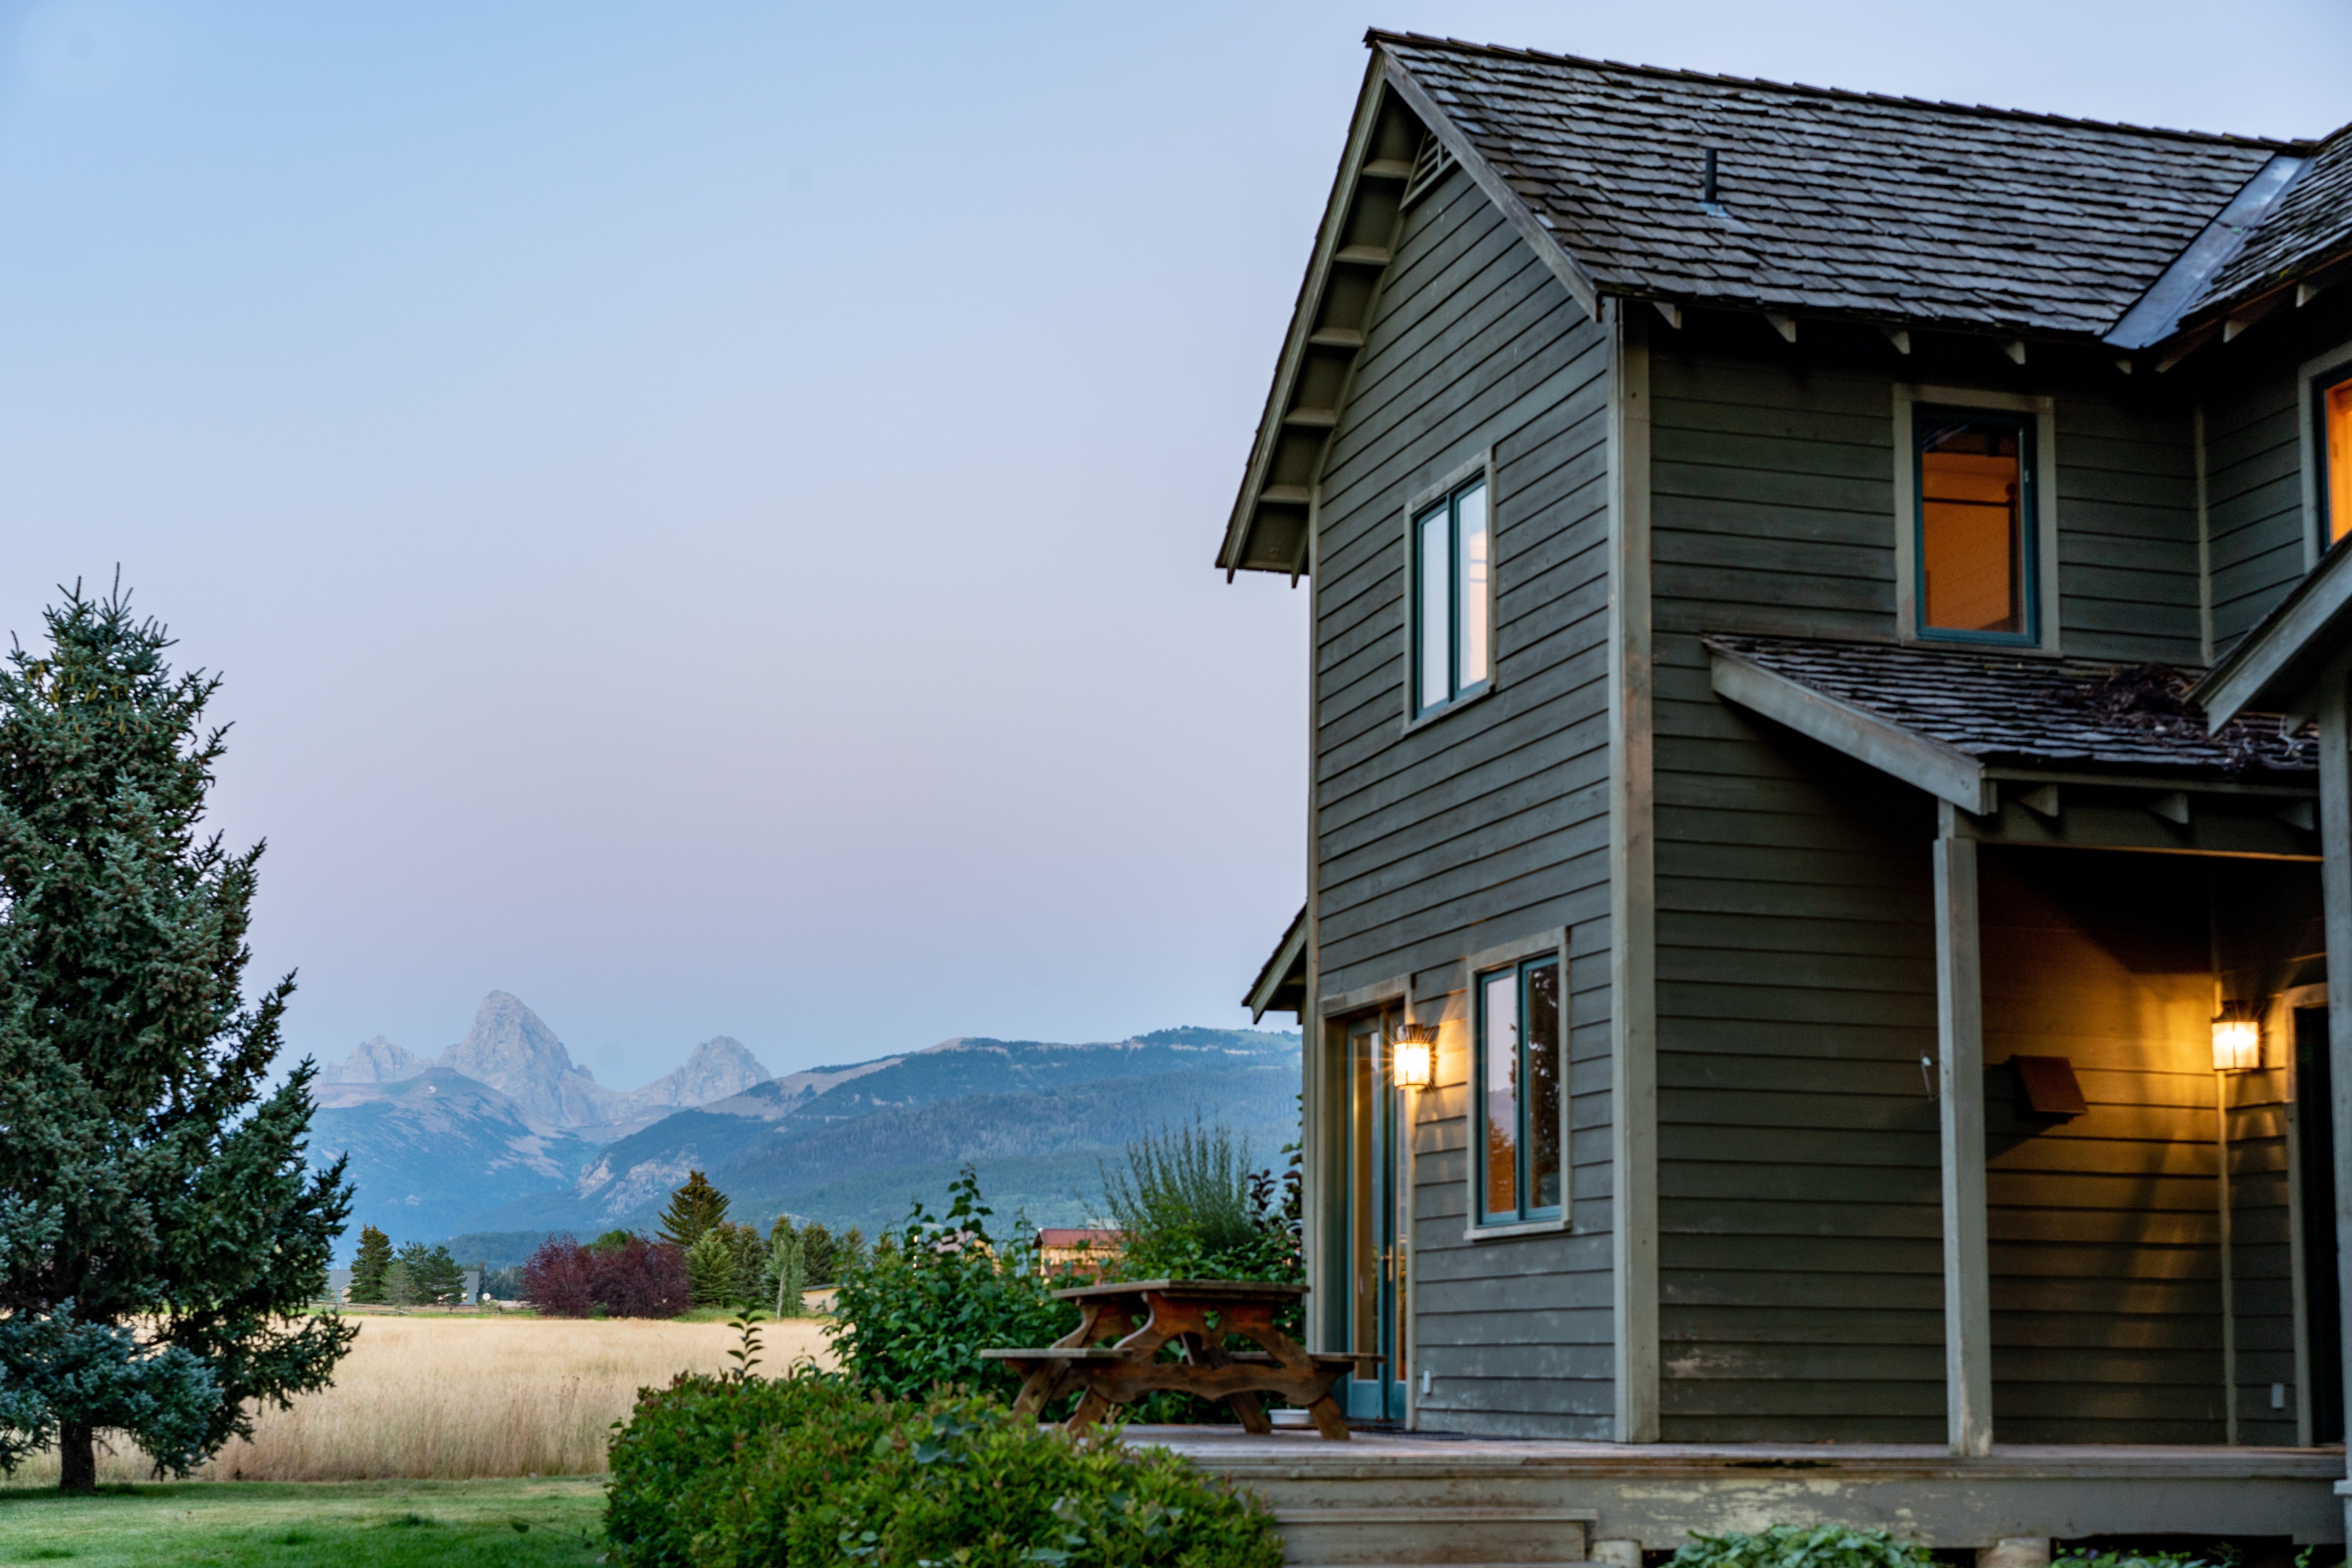
<path id="1" fill-rule="evenodd" d="M 2034 642 L 2034 425 L 2016 414 L 1917 409 L 1919 635 Z"/>

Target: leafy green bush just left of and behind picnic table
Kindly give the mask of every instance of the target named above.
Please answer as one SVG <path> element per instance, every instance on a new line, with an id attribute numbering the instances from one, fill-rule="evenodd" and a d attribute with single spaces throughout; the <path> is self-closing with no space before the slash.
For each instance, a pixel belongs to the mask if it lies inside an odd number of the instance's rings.
<path id="1" fill-rule="evenodd" d="M 889 1399 L 917 1399 L 936 1385 L 962 1382 L 1007 1399 L 1021 1380 L 997 1361 L 981 1361 L 993 1345 L 1051 1345 L 1077 1328 L 1077 1309 L 1051 1298 L 1061 1281 L 1025 1267 L 1028 1225 L 1000 1255 L 988 1234 L 995 1211 L 981 1201 L 971 1166 L 948 1187 L 943 1220 L 917 1199 L 906 1229 L 884 1234 L 868 1258 L 842 1269 L 826 1333 L 844 1373 Z"/>

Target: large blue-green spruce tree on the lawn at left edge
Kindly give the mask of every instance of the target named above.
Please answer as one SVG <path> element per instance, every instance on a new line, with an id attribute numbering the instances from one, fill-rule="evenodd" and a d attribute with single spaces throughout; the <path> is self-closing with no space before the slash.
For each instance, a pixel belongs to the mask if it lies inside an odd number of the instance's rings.
<path id="1" fill-rule="evenodd" d="M 0 1472 L 96 1432 L 188 1472 L 358 1328 L 310 1316 L 350 1213 L 310 1079 L 266 1088 L 287 976 L 245 997 L 261 846 L 200 837 L 219 677 L 73 588 L 0 668 Z"/>

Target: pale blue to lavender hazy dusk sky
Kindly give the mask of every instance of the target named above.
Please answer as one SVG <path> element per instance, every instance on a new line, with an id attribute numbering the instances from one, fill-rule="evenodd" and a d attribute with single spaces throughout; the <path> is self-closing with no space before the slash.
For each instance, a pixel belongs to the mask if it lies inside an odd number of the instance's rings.
<path id="1" fill-rule="evenodd" d="M 2343 0 L 0 7 L 0 630 L 235 719 L 292 1041 L 619 1086 L 1240 1023 L 1305 592 L 1209 562 L 1367 24 L 2201 129 Z"/>

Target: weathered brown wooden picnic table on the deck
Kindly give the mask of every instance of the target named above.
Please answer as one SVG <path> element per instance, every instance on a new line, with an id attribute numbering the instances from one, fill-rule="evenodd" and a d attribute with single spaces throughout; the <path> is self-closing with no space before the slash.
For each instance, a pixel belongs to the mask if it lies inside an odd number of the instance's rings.
<path id="1" fill-rule="evenodd" d="M 1305 1286 L 1256 1279 L 1131 1279 L 1108 1286 L 1054 1291 L 1077 1302 L 1077 1328 L 1030 1349 L 983 1349 L 1021 1373 L 1014 1410 L 1040 1415 L 1049 1403 L 1084 1389 L 1070 1415 L 1073 1432 L 1091 1427 L 1150 1389 L 1223 1399 L 1249 1432 L 1272 1432 L 1258 1394 L 1305 1406 L 1308 1420 L 1331 1441 L 1348 1439 L 1348 1418 L 1331 1385 L 1357 1356 L 1319 1356 L 1275 1328 L 1275 1314 L 1305 1295 Z M 1216 1324 L 1209 1316 L 1216 1316 Z M 1256 1349 L 1232 1349 L 1249 1340 Z M 1167 1345 L 1181 1361 L 1162 1361 Z"/>

